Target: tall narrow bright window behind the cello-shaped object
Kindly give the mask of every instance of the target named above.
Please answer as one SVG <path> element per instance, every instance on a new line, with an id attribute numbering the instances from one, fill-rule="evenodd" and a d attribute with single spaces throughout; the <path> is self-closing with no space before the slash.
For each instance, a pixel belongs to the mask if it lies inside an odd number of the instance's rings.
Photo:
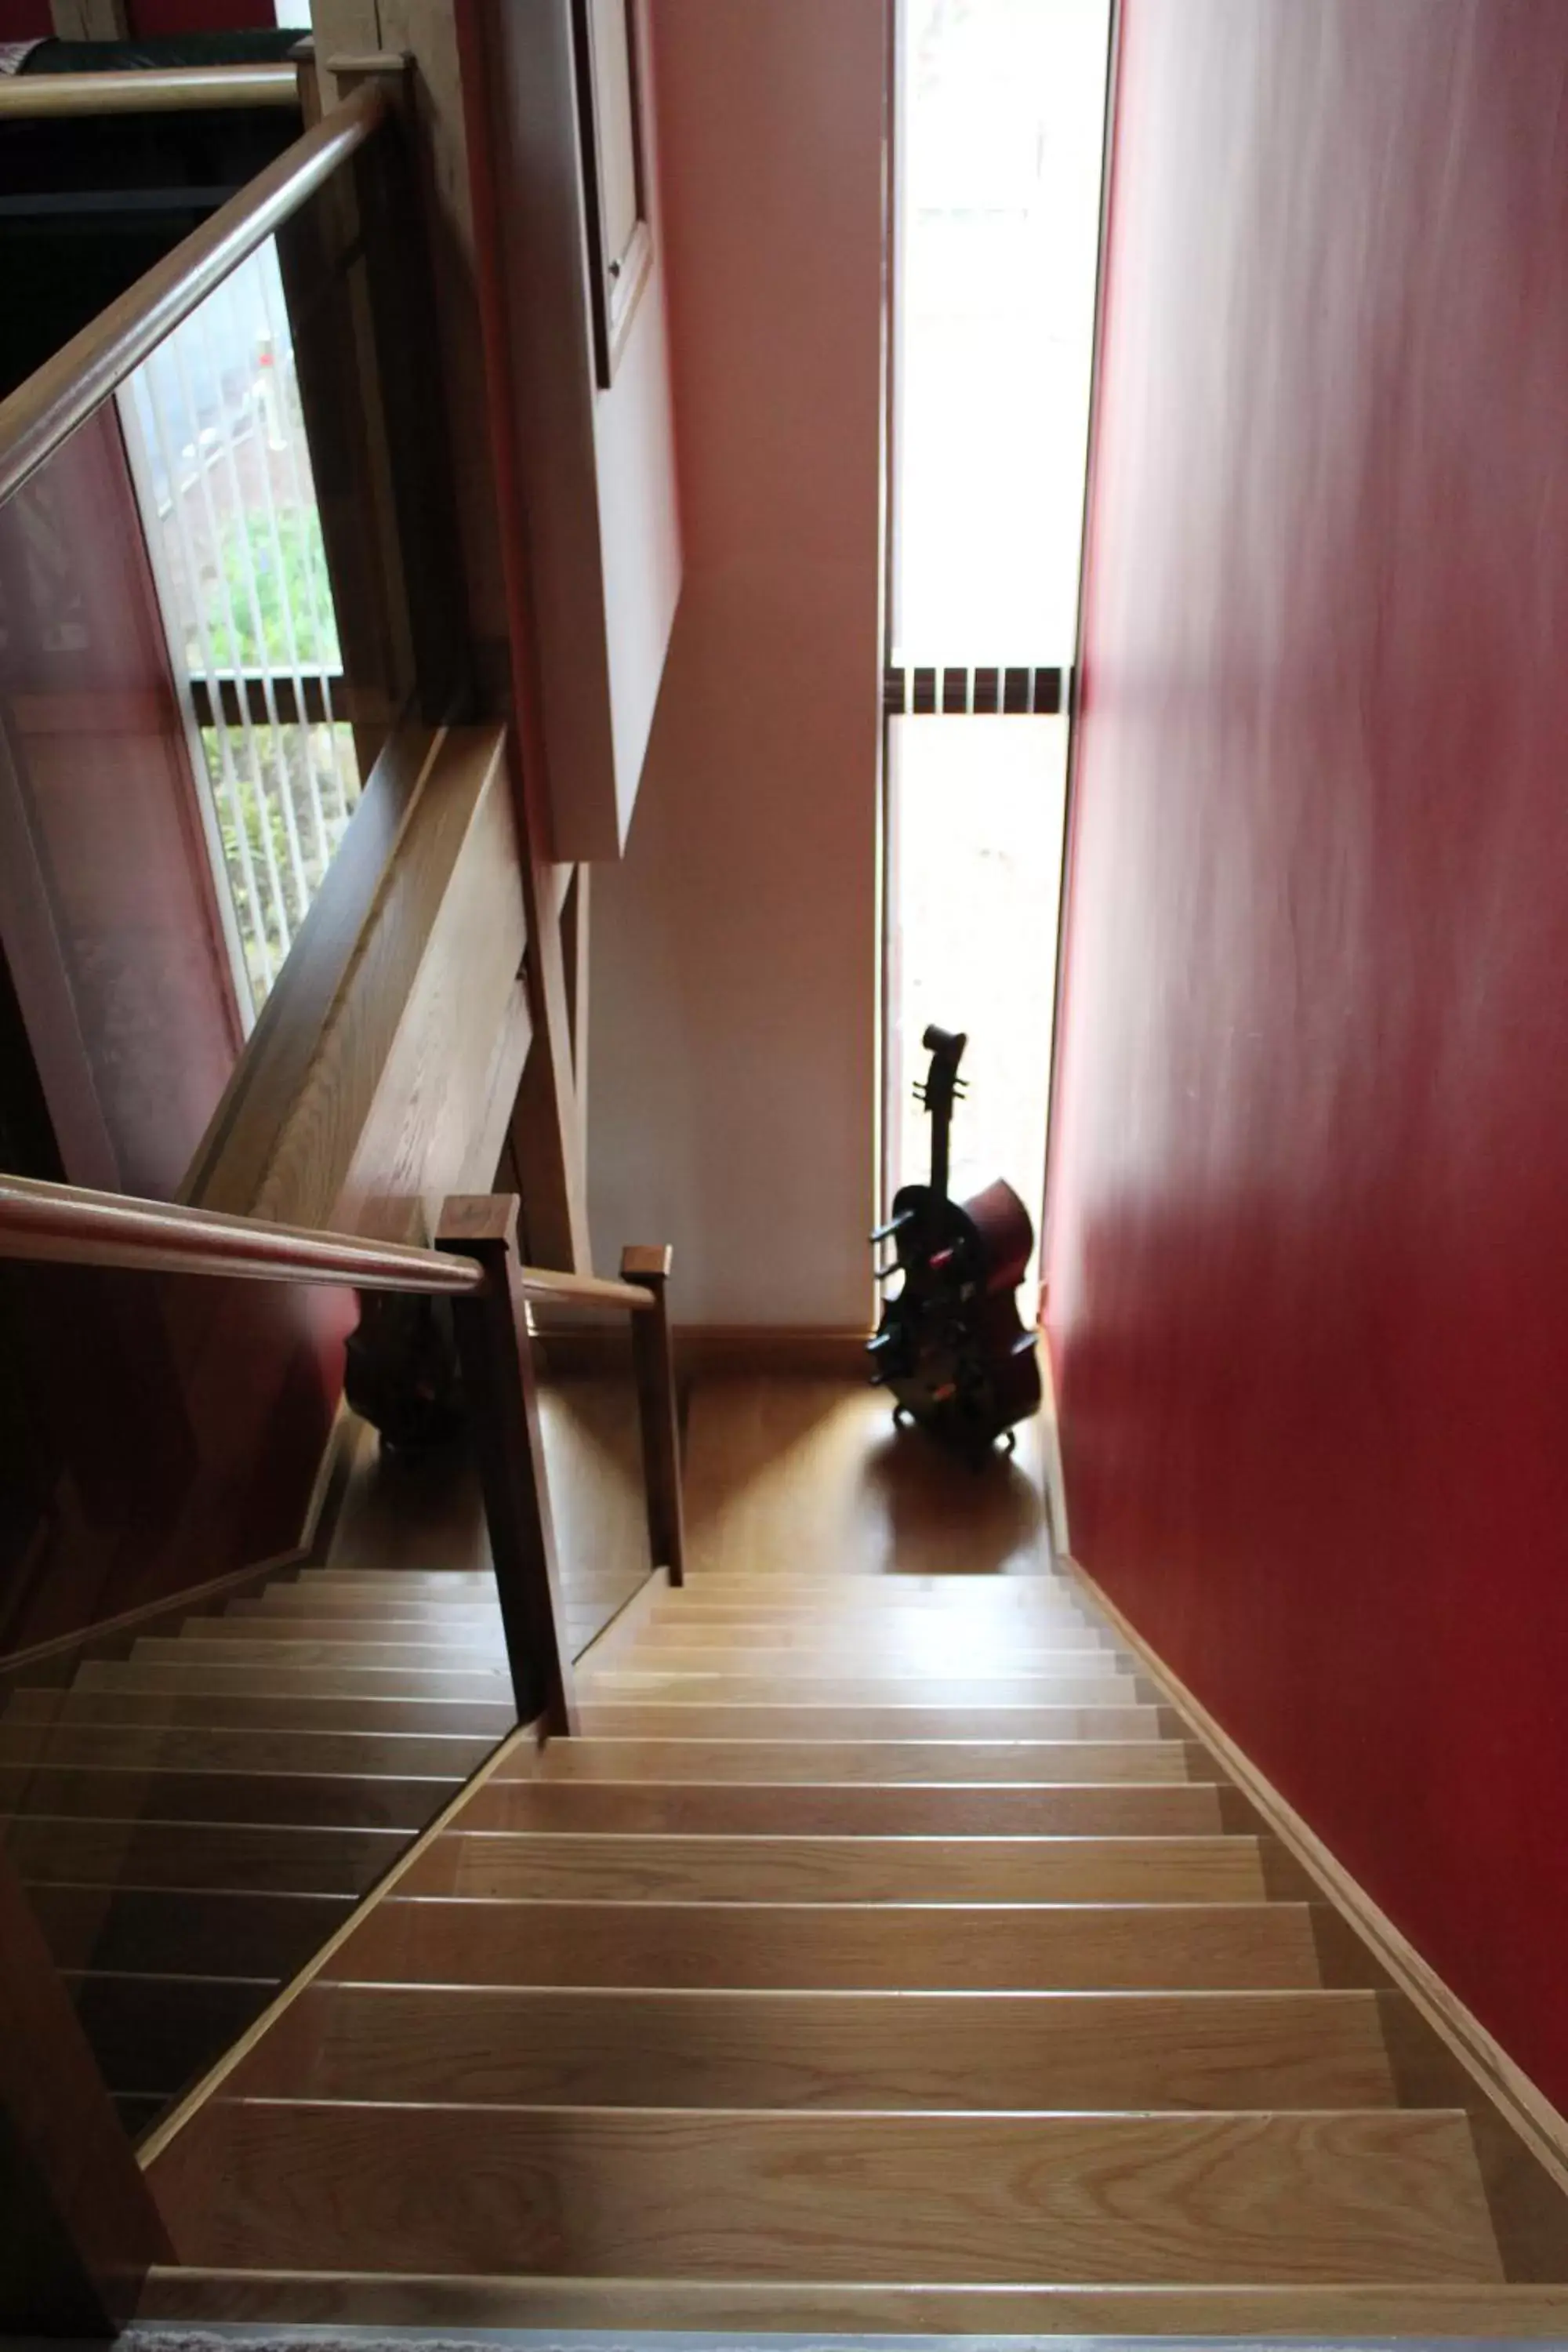
<path id="1" fill-rule="evenodd" d="M 1107 0 L 898 0 L 886 1192 L 929 1021 L 969 1030 L 957 1197 L 1039 1216 Z"/>

